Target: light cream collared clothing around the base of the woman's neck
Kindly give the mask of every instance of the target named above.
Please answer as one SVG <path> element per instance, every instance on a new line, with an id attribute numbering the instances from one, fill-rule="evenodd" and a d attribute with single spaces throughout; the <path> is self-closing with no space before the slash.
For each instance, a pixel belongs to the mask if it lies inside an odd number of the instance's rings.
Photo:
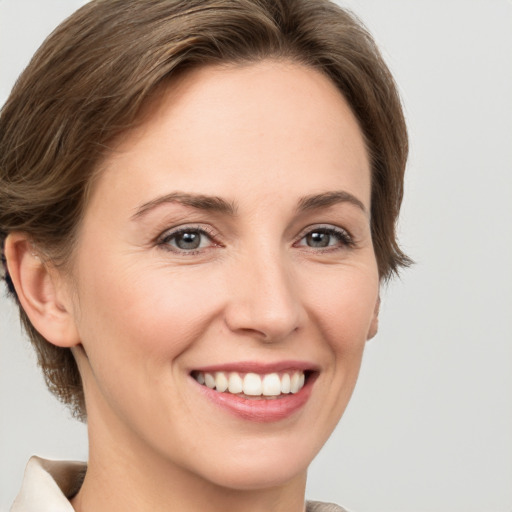
<path id="1" fill-rule="evenodd" d="M 69 498 L 80 489 L 86 469 L 83 462 L 32 457 L 11 512 L 74 512 Z M 309 501 L 306 512 L 347 511 L 331 503 Z"/>

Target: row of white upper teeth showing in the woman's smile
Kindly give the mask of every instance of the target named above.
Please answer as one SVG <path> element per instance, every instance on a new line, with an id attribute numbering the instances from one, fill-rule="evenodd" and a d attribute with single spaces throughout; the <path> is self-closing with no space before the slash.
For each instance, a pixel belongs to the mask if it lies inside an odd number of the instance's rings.
<path id="1" fill-rule="evenodd" d="M 194 372 L 194 378 L 210 389 L 216 389 L 220 393 L 229 392 L 233 395 L 244 394 L 247 396 L 279 396 L 288 393 L 298 393 L 305 383 L 303 371 L 293 373 L 246 373 L 238 372 Z"/>

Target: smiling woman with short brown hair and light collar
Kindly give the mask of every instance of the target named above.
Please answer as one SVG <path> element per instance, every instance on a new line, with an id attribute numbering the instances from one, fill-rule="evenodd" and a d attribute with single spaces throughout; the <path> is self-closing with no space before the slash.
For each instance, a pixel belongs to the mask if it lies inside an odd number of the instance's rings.
<path id="1" fill-rule="evenodd" d="M 327 1 L 93 1 L 0 137 L 6 281 L 90 447 L 31 461 L 12 510 L 304 510 L 408 263 L 370 36 Z"/>

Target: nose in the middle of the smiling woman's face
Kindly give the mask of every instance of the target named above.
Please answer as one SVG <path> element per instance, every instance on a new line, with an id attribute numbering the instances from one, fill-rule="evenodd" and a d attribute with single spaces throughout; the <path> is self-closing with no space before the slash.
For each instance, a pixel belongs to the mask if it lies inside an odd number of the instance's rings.
<path id="1" fill-rule="evenodd" d="M 297 331 L 305 318 L 292 265 L 278 251 L 243 258 L 228 276 L 228 328 L 272 343 Z"/>

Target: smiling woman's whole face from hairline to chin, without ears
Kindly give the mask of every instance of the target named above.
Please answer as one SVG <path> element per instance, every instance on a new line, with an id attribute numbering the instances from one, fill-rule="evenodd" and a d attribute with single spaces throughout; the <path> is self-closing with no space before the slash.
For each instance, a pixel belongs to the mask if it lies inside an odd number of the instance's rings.
<path id="1" fill-rule="evenodd" d="M 376 330 L 369 212 L 363 137 L 326 77 L 182 76 L 106 158 L 80 228 L 92 454 L 238 489 L 302 476 Z"/>

